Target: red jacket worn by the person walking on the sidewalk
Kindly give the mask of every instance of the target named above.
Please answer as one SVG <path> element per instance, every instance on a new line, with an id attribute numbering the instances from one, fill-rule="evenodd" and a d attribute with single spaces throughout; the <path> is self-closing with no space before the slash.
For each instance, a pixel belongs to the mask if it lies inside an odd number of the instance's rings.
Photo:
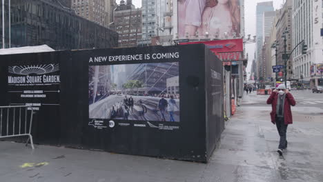
<path id="1" fill-rule="evenodd" d="M 271 92 L 271 96 L 267 100 L 267 104 L 271 104 L 271 122 L 276 123 L 276 106 L 277 106 L 278 92 Z M 291 105 L 295 106 L 296 102 L 291 93 L 287 93 L 284 101 L 284 120 L 285 125 L 293 124 L 293 117 L 291 114 Z"/>

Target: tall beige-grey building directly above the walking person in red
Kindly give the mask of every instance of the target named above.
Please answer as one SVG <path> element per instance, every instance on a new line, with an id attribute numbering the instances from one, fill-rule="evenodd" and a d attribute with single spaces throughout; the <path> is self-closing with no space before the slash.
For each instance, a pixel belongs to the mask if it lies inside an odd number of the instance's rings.
<path id="1" fill-rule="evenodd" d="M 291 52 L 293 50 L 292 46 L 292 7 L 291 0 L 287 0 L 280 11 L 280 17 L 276 23 L 276 37 L 277 37 L 277 64 L 284 65 L 284 60 L 282 59 L 282 52 L 284 52 L 284 32 L 286 35 L 286 52 Z M 293 58 L 287 61 L 287 79 L 293 79 Z M 282 70 L 284 72 L 284 70 Z"/>

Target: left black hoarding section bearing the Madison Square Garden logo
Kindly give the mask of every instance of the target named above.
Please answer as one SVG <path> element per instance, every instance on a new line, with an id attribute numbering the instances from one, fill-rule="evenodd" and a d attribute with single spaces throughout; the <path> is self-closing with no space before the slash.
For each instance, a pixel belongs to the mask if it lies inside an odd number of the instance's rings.
<path id="1" fill-rule="evenodd" d="M 0 104 L 32 106 L 38 143 L 59 143 L 60 61 L 66 59 L 65 53 L 8 54 L 0 59 Z"/>

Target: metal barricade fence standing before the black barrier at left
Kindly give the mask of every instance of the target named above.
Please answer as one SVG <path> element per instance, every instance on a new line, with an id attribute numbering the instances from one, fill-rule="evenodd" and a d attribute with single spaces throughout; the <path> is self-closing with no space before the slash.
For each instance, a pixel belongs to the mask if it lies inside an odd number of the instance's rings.
<path id="1" fill-rule="evenodd" d="M 30 141 L 32 149 L 34 143 L 32 141 L 32 117 L 34 111 L 31 106 L 0 106 L 0 139 L 28 136 L 26 146 Z"/>

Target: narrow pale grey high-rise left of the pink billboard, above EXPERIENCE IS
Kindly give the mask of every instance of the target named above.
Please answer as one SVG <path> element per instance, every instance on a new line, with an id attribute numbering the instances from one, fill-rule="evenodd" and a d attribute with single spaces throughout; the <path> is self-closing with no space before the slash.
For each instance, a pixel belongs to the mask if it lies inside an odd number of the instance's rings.
<path id="1" fill-rule="evenodd" d="M 142 37 L 141 40 L 138 41 L 138 45 L 140 46 L 151 45 L 151 37 L 156 36 L 156 1 L 157 0 L 142 0 Z"/>

